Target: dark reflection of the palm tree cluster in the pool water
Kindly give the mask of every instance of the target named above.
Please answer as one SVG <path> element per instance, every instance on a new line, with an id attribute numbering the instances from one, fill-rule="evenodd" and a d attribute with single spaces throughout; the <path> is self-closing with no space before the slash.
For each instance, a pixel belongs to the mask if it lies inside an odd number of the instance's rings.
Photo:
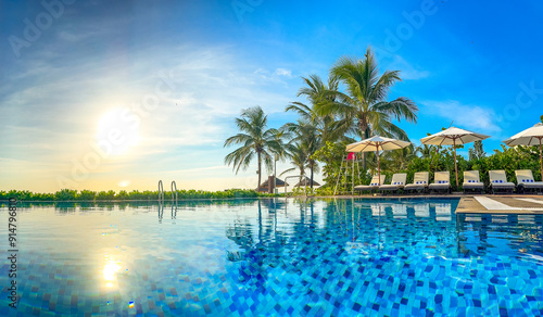
<path id="1" fill-rule="evenodd" d="M 275 288 L 267 283 L 269 275 L 277 278 L 274 283 L 278 282 L 279 287 L 302 296 L 311 296 L 315 289 L 331 287 L 331 281 L 323 279 L 325 268 L 328 267 L 328 271 L 337 265 L 346 267 L 349 262 L 357 262 L 353 256 L 361 256 L 363 251 L 353 253 L 353 246 L 366 249 L 363 244 L 356 242 L 355 245 L 352 242 L 358 241 L 362 233 L 361 212 L 350 205 L 329 205 L 327 208 L 330 210 L 324 213 L 325 226 L 319 228 L 314 203 L 308 202 L 304 206 L 300 202 L 300 219 L 293 223 L 288 232 L 263 224 L 266 218 L 262 215 L 261 201 L 257 206 L 258 232 L 254 232 L 254 226 L 243 220 L 235 221 L 226 231 L 227 238 L 241 250 L 228 252 L 227 257 L 230 262 L 240 262 L 237 276 L 245 290 L 269 292 Z M 276 214 L 270 210 L 268 219 L 274 217 Z"/>

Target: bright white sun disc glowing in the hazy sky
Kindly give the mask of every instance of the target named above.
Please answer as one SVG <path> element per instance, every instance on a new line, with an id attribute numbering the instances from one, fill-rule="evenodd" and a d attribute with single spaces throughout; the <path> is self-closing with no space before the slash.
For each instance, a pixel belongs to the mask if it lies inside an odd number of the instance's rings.
<path id="1" fill-rule="evenodd" d="M 139 118 L 128 109 L 115 107 L 98 121 L 96 141 L 108 155 L 122 155 L 139 141 Z"/>

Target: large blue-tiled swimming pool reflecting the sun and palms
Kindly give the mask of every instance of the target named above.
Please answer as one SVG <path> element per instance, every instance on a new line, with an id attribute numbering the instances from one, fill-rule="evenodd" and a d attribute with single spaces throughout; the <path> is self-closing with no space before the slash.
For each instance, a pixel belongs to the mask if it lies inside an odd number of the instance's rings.
<path id="1" fill-rule="evenodd" d="M 18 303 L 5 253 L 0 315 L 543 315 L 543 216 L 457 203 L 20 205 Z"/>

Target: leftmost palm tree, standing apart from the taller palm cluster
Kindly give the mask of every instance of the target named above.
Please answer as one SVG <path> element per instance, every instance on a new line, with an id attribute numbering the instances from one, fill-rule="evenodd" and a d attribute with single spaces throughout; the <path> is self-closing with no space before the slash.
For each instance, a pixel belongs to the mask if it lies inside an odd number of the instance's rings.
<path id="1" fill-rule="evenodd" d="M 241 169 L 245 170 L 256 154 L 258 161 L 258 187 L 262 180 L 262 161 L 268 170 L 272 169 L 274 154 L 281 153 L 281 134 L 277 129 L 266 129 L 267 115 L 260 106 L 245 109 L 241 112 L 241 117 L 236 118 L 236 126 L 240 134 L 226 139 L 224 147 L 241 144 L 240 148 L 225 156 L 225 163 L 233 164 L 236 174 Z"/>

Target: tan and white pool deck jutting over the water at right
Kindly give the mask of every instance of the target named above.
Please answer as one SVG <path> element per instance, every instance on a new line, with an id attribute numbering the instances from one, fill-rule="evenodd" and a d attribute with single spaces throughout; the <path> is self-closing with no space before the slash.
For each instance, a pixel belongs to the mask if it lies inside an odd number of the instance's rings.
<path id="1" fill-rule="evenodd" d="M 457 214 L 540 214 L 543 196 L 538 195 L 472 195 L 464 196 Z"/>

